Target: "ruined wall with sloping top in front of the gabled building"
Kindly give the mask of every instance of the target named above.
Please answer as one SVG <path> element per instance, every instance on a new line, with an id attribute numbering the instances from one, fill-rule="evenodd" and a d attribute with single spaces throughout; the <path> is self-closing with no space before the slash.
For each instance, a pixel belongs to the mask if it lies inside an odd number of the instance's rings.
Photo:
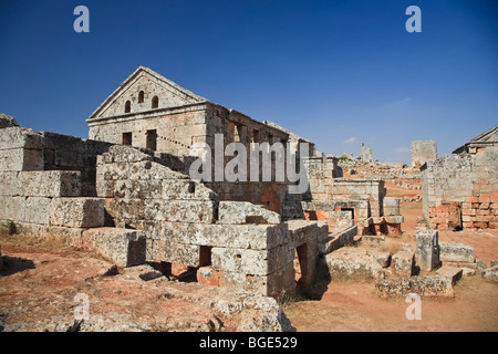
<path id="1" fill-rule="evenodd" d="M 211 285 L 292 292 L 294 253 L 305 264 L 307 284 L 319 239 L 326 237 L 314 222 L 291 228 L 262 207 L 219 201 L 203 184 L 125 146 L 98 158 L 97 191 L 117 227 L 145 231 L 148 261 L 170 271 L 195 269 L 198 281 Z"/>

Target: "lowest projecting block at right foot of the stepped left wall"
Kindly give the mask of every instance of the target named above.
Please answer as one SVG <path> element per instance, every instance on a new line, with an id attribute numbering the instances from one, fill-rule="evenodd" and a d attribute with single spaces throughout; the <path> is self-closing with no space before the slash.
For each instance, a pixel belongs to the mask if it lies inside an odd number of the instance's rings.
<path id="1" fill-rule="evenodd" d="M 82 244 L 110 259 L 117 267 L 139 266 L 145 262 L 144 231 L 116 228 L 89 229 L 82 235 Z"/>

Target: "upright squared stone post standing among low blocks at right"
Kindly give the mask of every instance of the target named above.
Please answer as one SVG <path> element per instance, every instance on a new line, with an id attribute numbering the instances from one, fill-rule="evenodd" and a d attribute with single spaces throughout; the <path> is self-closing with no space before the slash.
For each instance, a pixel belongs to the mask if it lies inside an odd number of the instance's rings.
<path id="1" fill-rule="evenodd" d="M 415 262 L 422 270 L 432 271 L 439 264 L 438 240 L 437 230 L 417 228 Z"/>

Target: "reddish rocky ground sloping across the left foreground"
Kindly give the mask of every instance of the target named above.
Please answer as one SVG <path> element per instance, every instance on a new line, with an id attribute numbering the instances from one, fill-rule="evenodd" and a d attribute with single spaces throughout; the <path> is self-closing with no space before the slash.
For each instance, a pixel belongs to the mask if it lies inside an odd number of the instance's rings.
<path id="1" fill-rule="evenodd" d="M 92 252 L 19 235 L 0 242 L 1 331 L 293 330 L 271 298 L 170 281 L 148 266 L 116 269 Z M 89 299 L 83 322 L 76 294 Z"/>

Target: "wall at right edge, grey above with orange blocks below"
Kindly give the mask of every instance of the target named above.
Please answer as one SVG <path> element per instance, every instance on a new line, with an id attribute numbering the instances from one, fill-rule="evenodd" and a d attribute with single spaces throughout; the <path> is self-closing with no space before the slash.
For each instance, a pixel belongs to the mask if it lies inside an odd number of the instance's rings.
<path id="1" fill-rule="evenodd" d="M 450 154 L 422 174 L 423 210 L 430 228 L 498 228 L 498 148 Z"/>

